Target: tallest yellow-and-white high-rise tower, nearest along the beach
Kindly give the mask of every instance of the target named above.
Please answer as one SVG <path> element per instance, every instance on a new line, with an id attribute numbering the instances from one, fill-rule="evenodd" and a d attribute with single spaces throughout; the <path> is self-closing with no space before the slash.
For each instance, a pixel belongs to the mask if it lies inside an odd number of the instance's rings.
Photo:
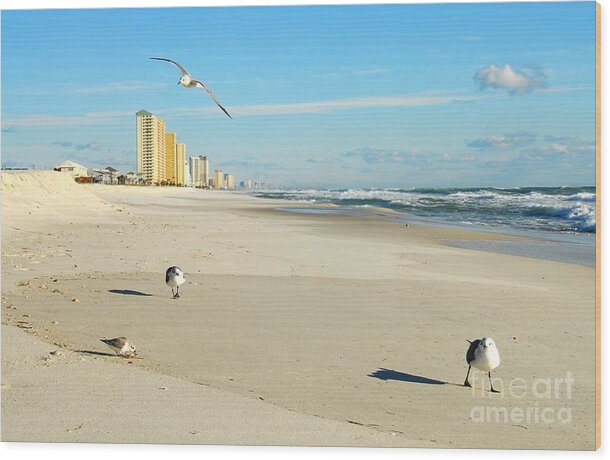
<path id="1" fill-rule="evenodd" d="M 136 113 L 136 155 L 138 174 L 146 182 L 165 180 L 165 123 L 146 110 Z"/>

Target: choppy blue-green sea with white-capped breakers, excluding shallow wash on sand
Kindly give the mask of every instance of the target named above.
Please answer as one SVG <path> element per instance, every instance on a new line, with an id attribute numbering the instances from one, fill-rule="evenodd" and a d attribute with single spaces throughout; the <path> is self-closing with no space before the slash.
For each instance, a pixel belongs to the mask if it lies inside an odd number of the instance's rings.
<path id="1" fill-rule="evenodd" d="M 385 207 L 481 226 L 558 232 L 595 232 L 594 187 L 476 189 L 294 189 L 258 193 L 268 198 Z"/>

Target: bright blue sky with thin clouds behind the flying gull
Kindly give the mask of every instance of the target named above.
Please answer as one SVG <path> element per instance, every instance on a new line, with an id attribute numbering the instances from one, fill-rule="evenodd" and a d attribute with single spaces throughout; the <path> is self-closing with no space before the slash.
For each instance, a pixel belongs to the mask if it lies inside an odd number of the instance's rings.
<path id="1" fill-rule="evenodd" d="M 593 2 L 3 11 L 2 164 L 135 170 L 146 109 L 238 180 L 593 185 L 594 24 Z"/>

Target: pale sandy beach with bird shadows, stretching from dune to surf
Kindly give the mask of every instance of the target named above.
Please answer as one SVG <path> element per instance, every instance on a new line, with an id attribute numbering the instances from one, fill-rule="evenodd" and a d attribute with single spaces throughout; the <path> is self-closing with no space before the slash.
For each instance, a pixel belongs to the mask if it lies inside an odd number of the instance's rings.
<path id="1" fill-rule="evenodd" d="M 2 441 L 595 448 L 594 267 L 283 205 L 3 172 Z"/>

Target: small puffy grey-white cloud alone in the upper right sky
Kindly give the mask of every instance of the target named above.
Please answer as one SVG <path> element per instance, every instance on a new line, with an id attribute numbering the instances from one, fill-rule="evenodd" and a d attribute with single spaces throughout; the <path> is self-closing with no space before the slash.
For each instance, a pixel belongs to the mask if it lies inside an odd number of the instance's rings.
<path id="1" fill-rule="evenodd" d="M 535 66 L 513 69 L 510 65 L 498 67 L 491 64 L 476 71 L 473 77 L 479 87 L 503 89 L 511 95 L 523 95 L 534 90 L 546 88 L 546 75 Z"/>

